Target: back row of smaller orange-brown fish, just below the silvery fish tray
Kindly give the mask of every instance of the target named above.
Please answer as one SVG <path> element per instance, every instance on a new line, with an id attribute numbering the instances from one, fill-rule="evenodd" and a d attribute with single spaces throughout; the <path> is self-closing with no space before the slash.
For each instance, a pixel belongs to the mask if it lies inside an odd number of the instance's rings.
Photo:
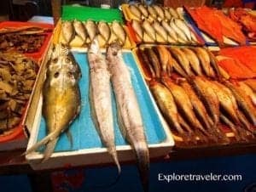
<path id="1" fill-rule="evenodd" d="M 160 78 L 161 73 L 172 76 L 175 71 L 180 76 L 208 76 L 228 78 L 229 75 L 218 66 L 214 55 L 207 48 L 177 48 L 156 46 L 139 48 L 139 58 L 148 69 L 148 76 Z"/>

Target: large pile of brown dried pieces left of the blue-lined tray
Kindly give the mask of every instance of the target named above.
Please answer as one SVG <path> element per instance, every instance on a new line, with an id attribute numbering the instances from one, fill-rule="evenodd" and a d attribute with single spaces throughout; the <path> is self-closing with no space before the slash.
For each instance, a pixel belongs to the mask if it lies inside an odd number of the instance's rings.
<path id="1" fill-rule="evenodd" d="M 32 93 L 38 65 L 21 54 L 0 54 L 0 134 L 17 126 Z"/>

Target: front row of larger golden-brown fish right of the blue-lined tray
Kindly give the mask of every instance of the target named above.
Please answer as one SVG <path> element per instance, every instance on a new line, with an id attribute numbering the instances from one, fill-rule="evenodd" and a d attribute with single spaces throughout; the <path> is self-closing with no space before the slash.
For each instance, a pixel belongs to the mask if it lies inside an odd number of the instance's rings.
<path id="1" fill-rule="evenodd" d="M 149 87 L 172 132 L 185 144 L 230 143 L 221 123 L 236 142 L 255 140 L 255 92 L 247 83 L 162 76 Z"/>

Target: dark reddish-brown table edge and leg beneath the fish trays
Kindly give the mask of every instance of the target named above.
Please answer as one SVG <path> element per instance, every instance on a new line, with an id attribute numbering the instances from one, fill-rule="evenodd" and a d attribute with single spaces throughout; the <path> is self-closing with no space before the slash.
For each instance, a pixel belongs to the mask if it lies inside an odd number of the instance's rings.
<path id="1" fill-rule="evenodd" d="M 0 175 L 16 175 L 16 174 L 27 174 L 30 182 L 32 184 L 33 191 L 43 192 L 51 191 L 51 172 L 64 171 L 73 168 L 95 168 L 95 167 L 114 167 L 113 164 L 105 164 L 100 166 L 90 166 L 90 167 L 66 167 L 61 169 L 51 169 L 51 170 L 41 170 L 34 171 L 32 167 L 29 166 L 25 157 L 20 157 L 20 155 L 25 150 L 14 150 L 9 152 L 0 153 Z M 188 155 L 189 154 L 189 155 Z M 173 149 L 169 155 L 166 157 L 152 159 L 151 163 L 172 163 L 175 161 L 184 160 L 200 160 L 204 158 L 222 157 L 222 156 L 233 156 L 233 155 L 249 155 L 256 154 L 256 144 L 243 144 L 243 145 L 230 145 L 222 147 L 212 147 L 212 148 L 198 148 L 198 149 L 187 149 L 187 150 L 176 150 Z M 16 157 L 16 159 L 13 159 Z M 122 165 L 135 165 L 135 161 L 122 162 Z"/>

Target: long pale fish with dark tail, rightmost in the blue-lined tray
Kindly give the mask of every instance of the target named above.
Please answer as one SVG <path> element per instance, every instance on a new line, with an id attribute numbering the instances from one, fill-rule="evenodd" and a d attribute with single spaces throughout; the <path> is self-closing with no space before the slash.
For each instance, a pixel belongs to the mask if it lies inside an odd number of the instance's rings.
<path id="1" fill-rule="evenodd" d="M 119 125 L 123 136 L 135 151 L 143 189 L 148 191 L 148 144 L 136 93 L 131 85 L 130 71 L 122 58 L 119 44 L 110 45 L 107 51 L 107 60 L 117 102 Z"/>

